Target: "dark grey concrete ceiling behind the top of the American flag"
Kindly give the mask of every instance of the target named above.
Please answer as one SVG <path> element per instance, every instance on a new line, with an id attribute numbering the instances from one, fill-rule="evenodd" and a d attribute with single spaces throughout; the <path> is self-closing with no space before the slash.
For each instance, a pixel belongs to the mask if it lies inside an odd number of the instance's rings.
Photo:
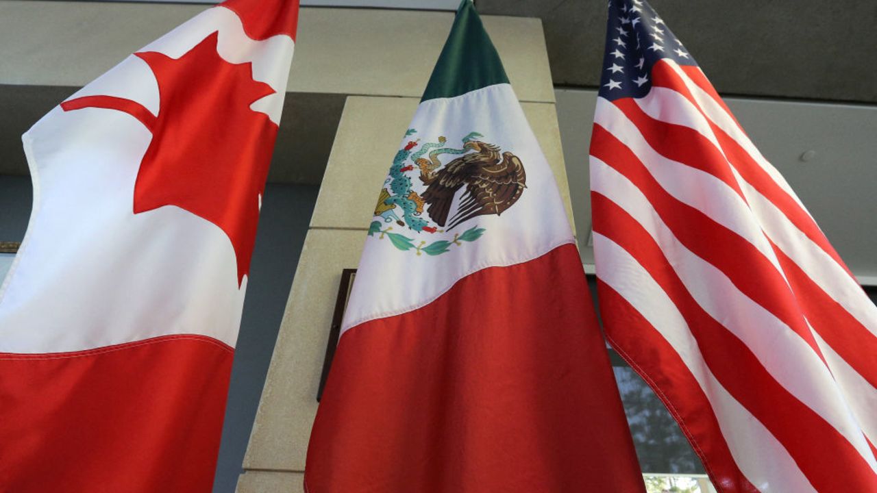
<path id="1" fill-rule="evenodd" d="M 877 103 L 874 0 L 649 3 L 720 93 Z M 475 4 L 482 14 L 541 18 L 556 85 L 599 83 L 606 0 Z"/>

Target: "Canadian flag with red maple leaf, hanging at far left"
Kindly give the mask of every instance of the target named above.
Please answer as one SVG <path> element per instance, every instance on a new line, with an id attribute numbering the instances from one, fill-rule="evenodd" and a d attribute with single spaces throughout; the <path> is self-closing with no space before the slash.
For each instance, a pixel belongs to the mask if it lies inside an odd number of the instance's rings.
<path id="1" fill-rule="evenodd" d="M 229 0 L 25 133 L 0 490 L 210 491 L 297 0 Z"/>

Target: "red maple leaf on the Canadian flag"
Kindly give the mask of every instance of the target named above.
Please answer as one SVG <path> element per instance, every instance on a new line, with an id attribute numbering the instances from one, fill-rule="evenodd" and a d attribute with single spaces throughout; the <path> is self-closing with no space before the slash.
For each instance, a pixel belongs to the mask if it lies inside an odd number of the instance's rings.
<path id="1" fill-rule="evenodd" d="M 173 59 L 135 54 L 159 86 L 159 114 L 130 99 L 85 96 L 65 111 L 96 107 L 125 111 L 153 133 L 134 186 L 134 213 L 176 205 L 219 226 L 238 259 L 238 284 L 249 272 L 277 125 L 250 104 L 274 93 L 253 80 L 251 63 L 217 54 L 218 32 Z"/>

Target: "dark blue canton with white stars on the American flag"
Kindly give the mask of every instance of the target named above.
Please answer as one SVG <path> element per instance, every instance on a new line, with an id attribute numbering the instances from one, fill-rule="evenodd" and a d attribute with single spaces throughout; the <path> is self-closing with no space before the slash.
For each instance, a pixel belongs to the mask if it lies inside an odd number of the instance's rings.
<path id="1" fill-rule="evenodd" d="M 645 0 L 610 0 L 600 96 L 645 96 L 652 89 L 652 66 L 665 58 L 697 65 Z"/>

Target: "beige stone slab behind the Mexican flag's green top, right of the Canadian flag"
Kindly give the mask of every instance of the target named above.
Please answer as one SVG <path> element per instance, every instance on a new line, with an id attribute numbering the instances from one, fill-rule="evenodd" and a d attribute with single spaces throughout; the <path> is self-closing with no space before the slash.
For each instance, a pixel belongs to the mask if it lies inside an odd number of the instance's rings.
<path id="1" fill-rule="evenodd" d="M 553 102 L 542 23 L 483 21 L 518 96 Z M 289 88 L 420 97 L 452 22 L 451 12 L 302 9 Z"/>

